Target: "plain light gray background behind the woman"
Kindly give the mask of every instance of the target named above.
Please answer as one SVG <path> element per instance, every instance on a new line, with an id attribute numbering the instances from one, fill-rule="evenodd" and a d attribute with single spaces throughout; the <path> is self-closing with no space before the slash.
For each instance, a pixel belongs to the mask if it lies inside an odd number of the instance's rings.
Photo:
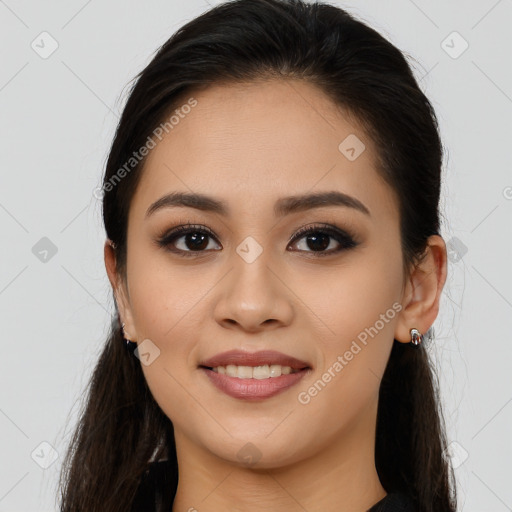
<path id="1" fill-rule="evenodd" d="M 459 510 L 512 510 L 512 3 L 338 4 L 416 61 L 439 116 L 451 249 L 429 350 L 448 456 Z M 0 0 L 0 511 L 57 510 L 60 462 L 113 312 L 93 190 L 128 81 L 208 7 Z M 47 58 L 43 31 L 58 44 Z"/>

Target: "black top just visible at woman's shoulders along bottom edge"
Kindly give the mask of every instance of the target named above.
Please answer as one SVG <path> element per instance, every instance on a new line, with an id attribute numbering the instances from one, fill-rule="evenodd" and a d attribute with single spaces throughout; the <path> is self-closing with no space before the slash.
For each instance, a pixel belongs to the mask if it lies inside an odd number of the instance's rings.
<path id="1" fill-rule="evenodd" d="M 159 489 L 169 489 L 174 482 L 173 468 L 168 461 L 153 462 L 143 476 L 130 512 L 171 512 L 176 489 L 163 496 Z M 399 492 L 388 493 L 367 512 L 415 512 L 412 500 Z"/>

